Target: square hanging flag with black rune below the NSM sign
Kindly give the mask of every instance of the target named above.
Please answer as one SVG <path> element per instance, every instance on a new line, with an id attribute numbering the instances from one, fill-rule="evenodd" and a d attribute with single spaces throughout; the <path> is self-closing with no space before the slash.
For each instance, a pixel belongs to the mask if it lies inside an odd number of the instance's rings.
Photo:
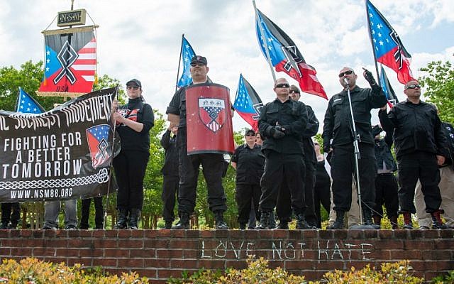
<path id="1" fill-rule="evenodd" d="M 59 30 L 57 30 L 59 31 Z M 93 28 L 45 35 L 44 80 L 38 92 L 89 93 L 96 73 Z"/>

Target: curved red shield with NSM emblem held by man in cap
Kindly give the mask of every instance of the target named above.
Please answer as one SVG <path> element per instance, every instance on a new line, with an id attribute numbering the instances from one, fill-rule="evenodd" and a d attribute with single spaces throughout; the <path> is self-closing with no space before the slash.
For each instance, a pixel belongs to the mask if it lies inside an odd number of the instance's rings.
<path id="1" fill-rule="evenodd" d="M 228 87 L 195 84 L 186 89 L 187 153 L 233 153 Z"/>

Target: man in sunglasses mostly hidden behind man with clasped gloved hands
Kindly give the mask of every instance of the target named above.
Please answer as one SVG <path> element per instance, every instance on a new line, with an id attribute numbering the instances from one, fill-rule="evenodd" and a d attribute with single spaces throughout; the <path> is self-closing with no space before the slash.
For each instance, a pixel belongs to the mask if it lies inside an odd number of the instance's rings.
<path id="1" fill-rule="evenodd" d="M 299 101 L 301 94 L 297 86 L 292 84 L 289 90 L 290 99 Z M 306 173 L 304 175 L 304 201 L 307 209 L 304 214 L 304 218 L 314 229 L 317 224 L 317 218 L 315 214 L 314 205 L 314 186 L 315 186 L 315 169 L 317 164 L 317 158 L 314 151 L 314 142 L 312 142 L 312 136 L 316 135 L 319 131 L 319 120 L 316 118 L 314 111 L 311 107 L 306 104 L 307 109 L 307 125 L 306 129 L 301 132 L 303 138 L 303 151 L 304 151 L 304 166 Z M 292 210 L 289 207 L 290 195 L 288 190 L 284 190 L 283 187 L 277 197 L 276 212 L 282 219 L 279 220 L 277 229 L 289 229 L 288 222 L 291 221 Z"/>

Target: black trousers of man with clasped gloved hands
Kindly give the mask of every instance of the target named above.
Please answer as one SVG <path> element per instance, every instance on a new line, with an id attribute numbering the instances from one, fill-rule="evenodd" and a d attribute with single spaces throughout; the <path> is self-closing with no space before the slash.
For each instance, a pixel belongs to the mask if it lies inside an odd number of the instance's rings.
<path id="1" fill-rule="evenodd" d="M 303 182 L 305 171 L 302 154 L 265 152 L 265 171 L 260 181 L 262 186 L 260 212 L 271 212 L 276 207 L 279 198 L 282 202 L 279 204 L 279 208 L 289 207 L 295 214 L 304 213 L 306 211 Z M 285 192 L 285 187 L 288 187 L 289 195 Z M 278 197 L 279 194 L 280 197 Z M 276 214 L 279 219 L 287 217 L 284 216 L 286 213 L 282 210 L 276 211 Z"/>

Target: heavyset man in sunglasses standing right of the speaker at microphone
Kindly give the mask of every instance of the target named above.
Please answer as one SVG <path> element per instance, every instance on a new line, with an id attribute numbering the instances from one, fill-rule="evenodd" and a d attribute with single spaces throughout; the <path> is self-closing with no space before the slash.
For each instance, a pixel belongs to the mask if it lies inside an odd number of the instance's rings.
<path id="1" fill-rule="evenodd" d="M 438 165 L 445 163 L 446 137 L 436 107 L 421 101 L 421 86 L 416 80 L 405 84 L 404 94 L 405 102 L 396 104 L 388 114 L 385 105 L 378 114 L 384 131 L 394 131 L 400 185 L 399 213 L 404 215 L 404 229 L 413 229 L 411 213 L 416 213 L 414 192 L 419 179 L 426 212 L 432 217 L 432 228 L 446 229 L 440 217 L 443 211 L 438 187 Z"/>

